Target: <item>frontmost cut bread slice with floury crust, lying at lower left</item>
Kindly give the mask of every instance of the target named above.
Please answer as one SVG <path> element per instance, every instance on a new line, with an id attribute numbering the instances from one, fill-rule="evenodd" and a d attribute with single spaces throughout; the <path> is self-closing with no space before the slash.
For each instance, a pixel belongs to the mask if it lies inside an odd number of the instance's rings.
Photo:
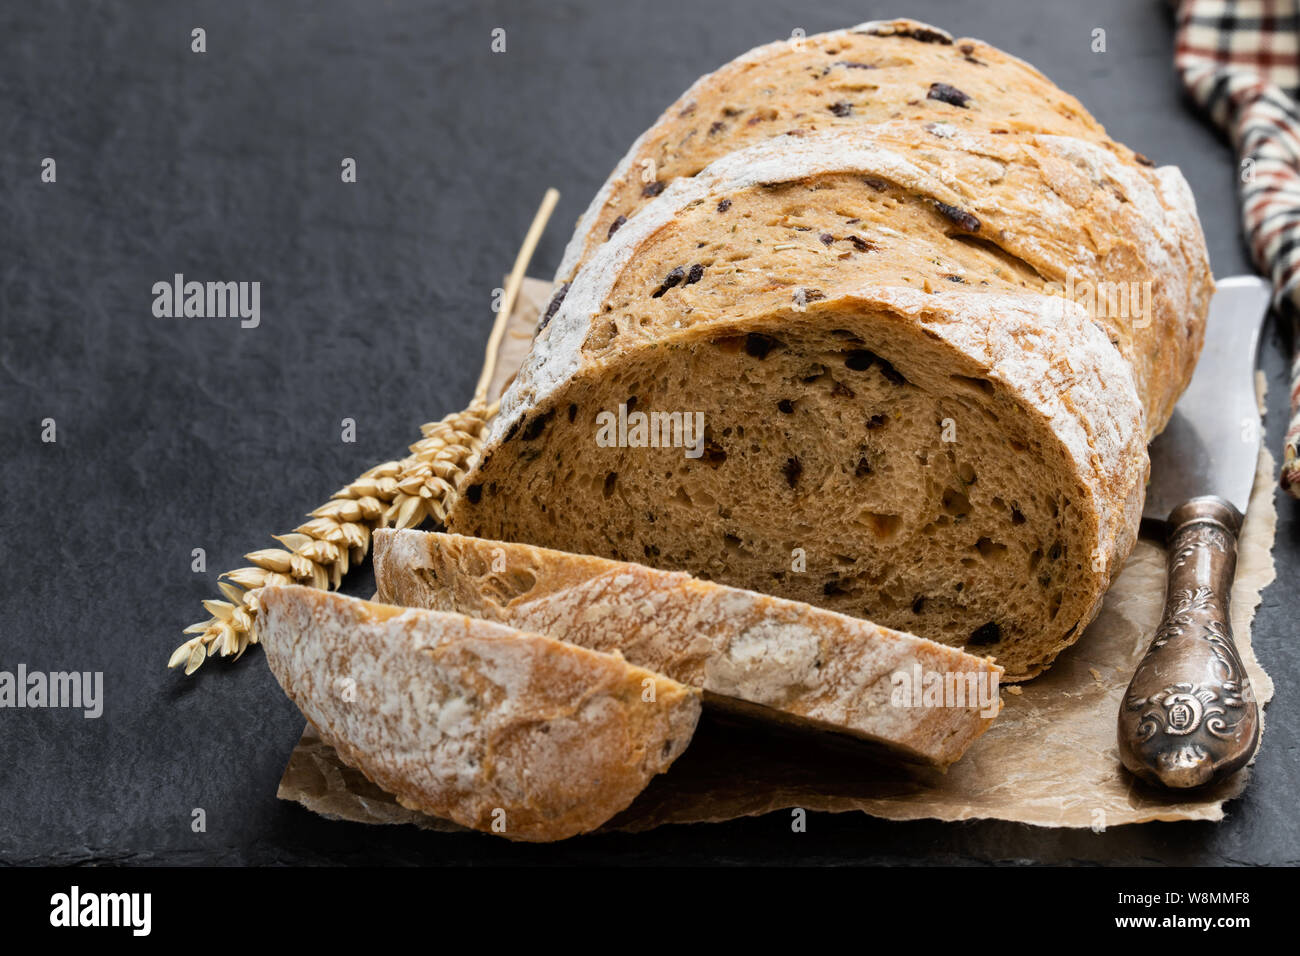
<path id="1" fill-rule="evenodd" d="M 339 757 L 403 806 L 511 840 L 594 830 L 663 773 L 693 688 L 460 614 L 264 588 L 257 636 Z"/>

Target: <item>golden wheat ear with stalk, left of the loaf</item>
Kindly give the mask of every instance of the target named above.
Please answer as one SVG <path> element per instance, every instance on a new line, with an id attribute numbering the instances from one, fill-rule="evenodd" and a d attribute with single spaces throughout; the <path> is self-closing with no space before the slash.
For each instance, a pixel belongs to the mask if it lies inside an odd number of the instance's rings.
<path id="1" fill-rule="evenodd" d="M 488 421 L 497 414 L 497 405 L 488 403 L 497 352 L 515 311 L 528 263 L 559 198 L 554 189 L 546 190 L 515 256 L 469 407 L 421 425 L 422 437 L 410 446 L 404 458 L 365 471 L 308 512 L 311 520 L 287 535 L 272 535 L 280 548 L 251 551 L 244 555 L 250 567 L 222 574 L 217 587 L 225 600 L 203 602 L 211 617 L 185 628 L 185 633 L 194 636 L 172 652 L 168 667 L 185 665 L 185 672 L 194 674 L 214 654 L 238 659 L 257 643 L 260 588 L 308 584 L 322 591 L 335 589 L 348 568 L 365 558 L 374 531 L 415 528 L 428 518 L 436 522 L 446 518 L 447 503 L 482 447 Z"/>

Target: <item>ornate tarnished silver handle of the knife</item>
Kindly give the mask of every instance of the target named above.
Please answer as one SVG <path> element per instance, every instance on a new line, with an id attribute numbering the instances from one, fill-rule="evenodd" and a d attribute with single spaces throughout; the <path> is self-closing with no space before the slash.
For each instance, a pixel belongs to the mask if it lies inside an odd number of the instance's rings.
<path id="1" fill-rule="evenodd" d="M 1119 706 L 1119 760 L 1149 783 L 1201 787 L 1245 766 L 1260 741 L 1228 619 L 1242 515 L 1202 496 L 1169 525 L 1165 614 Z"/>

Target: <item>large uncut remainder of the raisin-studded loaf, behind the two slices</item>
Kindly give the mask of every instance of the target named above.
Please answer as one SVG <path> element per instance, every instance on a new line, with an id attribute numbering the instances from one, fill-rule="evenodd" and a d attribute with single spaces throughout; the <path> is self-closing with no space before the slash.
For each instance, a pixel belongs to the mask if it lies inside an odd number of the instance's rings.
<path id="1" fill-rule="evenodd" d="M 559 276 L 448 529 L 815 604 L 1008 680 L 1132 548 L 1213 290 L 1176 169 L 910 21 L 701 79 Z"/>

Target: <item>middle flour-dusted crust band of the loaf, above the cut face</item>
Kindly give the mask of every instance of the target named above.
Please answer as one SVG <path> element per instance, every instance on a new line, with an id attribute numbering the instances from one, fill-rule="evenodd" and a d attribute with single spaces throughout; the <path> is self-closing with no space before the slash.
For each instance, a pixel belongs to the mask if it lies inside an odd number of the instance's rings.
<path id="1" fill-rule="evenodd" d="M 776 185 L 794 195 L 764 202 Z M 755 220 L 755 208 L 766 219 Z M 755 238 L 760 226 L 768 230 Z M 744 234 L 732 241 L 728 229 Z M 663 276 L 638 264 L 658 264 L 646 247 L 673 245 L 672 233 L 682 264 L 706 268 L 697 284 L 655 302 L 646 297 Z M 699 239 L 714 246 L 692 250 Z M 729 243 L 720 261 L 719 241 Z M 737 254 L 744 260 L 733 265 Z M 601 248 L 540 333 L 494 433 L 542 401 L 584 352 L 707 317 L 720 295 L 754 311 L 758 302 L 788 300 L 796 287 L 832 294 L 866 281 L 957 282 L 1082 302 L 1134 369 L 1148 437 L 1191 378 L 1213 291 L 1195 204 L 1176 169 L 1126 165 L 1079 139 L 1008 139 L 940 122 L 768 139 L 673 183 Z M 624 300 L 632 307 L 620 310 Z M 599 311 L 611 303 L 612 313 Z"/>

